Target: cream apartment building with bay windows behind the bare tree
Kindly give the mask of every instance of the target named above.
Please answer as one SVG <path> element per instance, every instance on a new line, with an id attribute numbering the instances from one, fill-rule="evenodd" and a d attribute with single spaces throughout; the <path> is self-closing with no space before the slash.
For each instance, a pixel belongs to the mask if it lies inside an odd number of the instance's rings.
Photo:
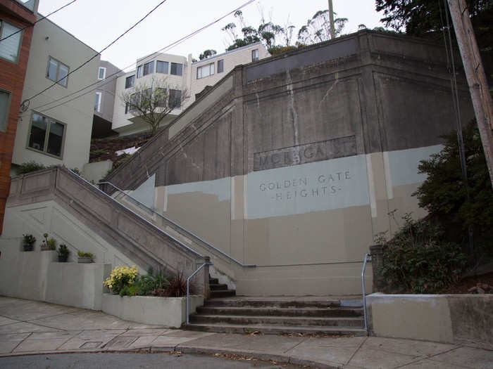
<path id="1" fill-rule="evenodd" d="M 155 53 L 140 58 L 135 70 L 118 77 L 116 81 L 112 129 L 123 136 L 149 130 L 149 124 L 132 114 L 129 106 L 123 101 L 122 97 L 135 89 L 154 91 L 156 88 L 166 88 L 170 91 L 168 98 L 182 100 L 181 104 L 163 119 L 160 126 L 164 127 L 191 105 L 206 86 L 216 84 L 236 65 L 251 63 L 268 56 L 270 53 L 266 47 L 257 42 L 198 61 L 192 58 L 192 54 L 185 58 Z"/>

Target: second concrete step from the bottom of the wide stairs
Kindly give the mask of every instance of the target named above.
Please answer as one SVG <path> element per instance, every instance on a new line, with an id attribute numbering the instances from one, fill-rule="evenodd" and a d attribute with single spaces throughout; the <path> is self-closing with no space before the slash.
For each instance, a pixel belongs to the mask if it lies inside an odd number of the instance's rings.
<path id="1" fill-rule="evenodd" d="M 229 316 L 192 314 L 190 321 L 199 324 L 233 324 L 233 325 L 282 325 L 318 327 L 351 327 L 362 328 L 362 318 L 313 318 L 298 316 Z"/>

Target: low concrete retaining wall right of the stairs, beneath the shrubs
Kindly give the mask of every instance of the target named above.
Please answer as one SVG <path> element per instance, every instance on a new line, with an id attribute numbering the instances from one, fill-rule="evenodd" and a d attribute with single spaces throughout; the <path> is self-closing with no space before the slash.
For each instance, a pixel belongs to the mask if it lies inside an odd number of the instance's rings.
<path id="1" fill-rule="evenodd" d="M 378 337 L 480 344 L 493 349 L 491 294 L 370 294 L 368 330 Z"/>

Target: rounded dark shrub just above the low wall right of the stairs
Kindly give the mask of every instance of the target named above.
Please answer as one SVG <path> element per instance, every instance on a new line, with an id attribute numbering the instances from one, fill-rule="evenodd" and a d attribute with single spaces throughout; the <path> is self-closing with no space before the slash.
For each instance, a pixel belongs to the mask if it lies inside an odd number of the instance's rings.
<path id="1" fill-rule="evenodd" d="M 461 246 L 444 240 L 444 231 L 430 219 L 410 214 L 392 240 L 384 242 L 382 276 L 401 291 L 433 293 L 458 282 L 466 268 Z"/>

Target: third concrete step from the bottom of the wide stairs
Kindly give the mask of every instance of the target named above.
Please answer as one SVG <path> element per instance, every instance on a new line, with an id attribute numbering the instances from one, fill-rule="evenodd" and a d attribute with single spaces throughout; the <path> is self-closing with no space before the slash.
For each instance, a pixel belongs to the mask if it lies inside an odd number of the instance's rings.
<path id="1" fill-rule="evenodd" d="M 361 317 L 360 308 L 271 308 L 271 307 L 230 307 L 201 306 L 197 313 L 205 315 L 230 316 L 305 316 L 305 317 Z"/>

